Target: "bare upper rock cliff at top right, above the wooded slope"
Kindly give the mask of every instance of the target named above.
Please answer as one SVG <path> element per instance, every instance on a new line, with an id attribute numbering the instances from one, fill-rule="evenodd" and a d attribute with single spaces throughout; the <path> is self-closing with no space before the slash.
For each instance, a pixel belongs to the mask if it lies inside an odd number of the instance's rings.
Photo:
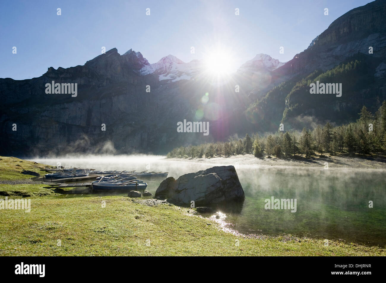
<path id="1" fill-rule="evenodd" d="M 313 44 L 274 71 L 278 77 L 326 71 L 357 53 L 386 56 L 386 1 L 377 0 L 355 8 L 337 18 L 313 40 Z"/>

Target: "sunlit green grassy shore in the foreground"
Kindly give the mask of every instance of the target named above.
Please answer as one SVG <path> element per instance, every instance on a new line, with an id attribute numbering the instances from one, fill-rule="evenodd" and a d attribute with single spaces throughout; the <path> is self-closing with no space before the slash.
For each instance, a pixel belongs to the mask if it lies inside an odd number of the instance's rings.
<path id="1" fill-rule="evenodd" d="M 325 246 L 324 239 L 292 235 L 247 238 L 226 233 L 215 221 L 196 216 L 194 209 L 168 203 L 149 206 L 122 195 L 66 196 L 43 188 L 45 184 L 4 184 L 27 181 L 25 177 L 31 176 L 20 174 L 22 169 L 42 173 L 44 165 L 0 158 L 0 198 L 31 199 L 29 213 L 0 209 L 1 256 L 386 255 L 384 247 L 342 241 L 330 240 Z"/>

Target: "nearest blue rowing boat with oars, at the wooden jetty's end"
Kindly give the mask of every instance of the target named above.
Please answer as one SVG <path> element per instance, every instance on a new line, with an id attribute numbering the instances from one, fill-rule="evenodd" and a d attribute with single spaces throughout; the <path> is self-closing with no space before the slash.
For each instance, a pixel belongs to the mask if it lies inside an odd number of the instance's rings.
<path id="1" fill-rule="evenodd" d="M 144 191 L 146 187 L 147 183 L 127 174 L 101 175 L 92 182 L 93 191 Z"/>

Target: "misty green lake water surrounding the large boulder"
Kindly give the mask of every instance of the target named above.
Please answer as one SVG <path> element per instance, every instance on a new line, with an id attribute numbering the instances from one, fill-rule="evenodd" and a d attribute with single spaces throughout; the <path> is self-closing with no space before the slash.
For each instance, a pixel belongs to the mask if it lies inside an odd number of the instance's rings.
<path id="1" fill-rule="evenodd" d="M 175 161 L 164 156 L 64 156 L 34 158 L 43 164 L 99 170 L 166 171 L 169 177 L 229 165 Z M 242 234 L 295 234 L 384 245 L 386 170 L 235 165 L 245 192 L 240 213 L 225 213 L 224 227 Z M 147 181 L 155 193 L 162 180 Z M 71 196 L 70 196 L 71 197 Z M 297 199 L 297 211 L 265 209 L 265 199 Z M 374 204 L 369 208 L 369 201 Z M 212 217 L 212 214 L 203 214 Z"/>

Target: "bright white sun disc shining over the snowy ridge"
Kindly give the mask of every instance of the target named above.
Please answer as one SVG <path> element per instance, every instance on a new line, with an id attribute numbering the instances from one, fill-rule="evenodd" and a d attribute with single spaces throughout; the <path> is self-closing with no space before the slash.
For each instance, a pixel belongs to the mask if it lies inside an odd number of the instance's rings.
<path id="1" fill-rule="evenodd" d="M 205 70 L 208 75 L 223 77 L 232 73 L 233 56 L 223 48 L 215 48 L 205 54 Z"/>

